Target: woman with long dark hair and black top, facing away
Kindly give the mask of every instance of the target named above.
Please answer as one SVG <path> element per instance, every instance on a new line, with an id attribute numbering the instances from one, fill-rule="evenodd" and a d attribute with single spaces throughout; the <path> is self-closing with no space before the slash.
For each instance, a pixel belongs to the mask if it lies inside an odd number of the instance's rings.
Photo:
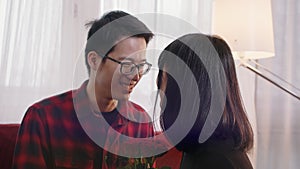
<path id="1" fill-rule="evenodd" d="M 183 169 L 253 168 L 253 131 L 243 107 L 234 60 L 217 36 L 188 34 L 158 61 L 161 127 L 183 152 Z"/>

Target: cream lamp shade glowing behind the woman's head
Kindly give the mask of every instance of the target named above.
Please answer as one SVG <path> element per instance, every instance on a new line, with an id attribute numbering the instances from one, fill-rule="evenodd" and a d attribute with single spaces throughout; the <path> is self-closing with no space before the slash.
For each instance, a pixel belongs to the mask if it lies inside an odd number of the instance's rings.
<path id="1" fill-rule="evenodd" d="M 214 0 L 212 33 L 226 40 L 235 59 L 274 56 L 270 0 Z"/>

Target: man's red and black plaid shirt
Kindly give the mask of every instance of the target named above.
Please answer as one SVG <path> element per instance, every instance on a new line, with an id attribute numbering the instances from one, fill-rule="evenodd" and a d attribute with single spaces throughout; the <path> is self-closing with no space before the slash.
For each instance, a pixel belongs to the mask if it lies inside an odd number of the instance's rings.
<path id="1" fill-rule="evenodd" d="M 14 169 L 116 168 L 114 155 L 98 145 L 110 144 L 117 137 L 110 136 L 111 128 L 104 125 L 103 116 L 92 112 L 86 85 L 29 107 L 18 133 Z M 153 136 L 151 122 L 124 117 L 149 120 L 140 106 L 119 102 L 118 112 L 112 130 L 130 137 Z"/>

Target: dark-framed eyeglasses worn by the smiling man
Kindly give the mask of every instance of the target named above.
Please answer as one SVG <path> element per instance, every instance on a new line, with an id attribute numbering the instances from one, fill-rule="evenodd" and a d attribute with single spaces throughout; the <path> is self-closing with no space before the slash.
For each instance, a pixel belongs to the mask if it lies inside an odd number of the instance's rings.
<path id="1" fill-rule="evenodd" d="M 120 62 L 118 60 L 115 60 L 115 59 L 107 56 L 107 55 L 104 58 L 107 58 L 107 59 L 109 59 L 113 62 L 116 62 L 116 63 L 120 64 L 121 65 L 120 72 L 124 75 L 131 75 L 134 72 L 136 72 L 136 70 L 138 70 L 138 73 L 140 75 L 144 75 L 144 74 L 149 72 L 149 70 L 152 66 L 152 64 L 150 64 L 148 62 L 141 63 L 141 64 L 138 64 L 138 65 L 136 65 L 132 62 Z"/>

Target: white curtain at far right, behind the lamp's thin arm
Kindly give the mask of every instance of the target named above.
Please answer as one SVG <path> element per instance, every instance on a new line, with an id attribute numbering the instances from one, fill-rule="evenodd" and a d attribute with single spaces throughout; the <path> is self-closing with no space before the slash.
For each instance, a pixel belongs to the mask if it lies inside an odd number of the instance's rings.
<path id="1" fill-rule="evenodd" d="M 300 96 L 300 1 L 272 0 L 275 57 L 259 62 L 293 86 L 272 77 Z M 267 73 L 267 72 L 265 72 Z M 300 166 L 300 100 L 257 77 L 257 168 Z"/>

